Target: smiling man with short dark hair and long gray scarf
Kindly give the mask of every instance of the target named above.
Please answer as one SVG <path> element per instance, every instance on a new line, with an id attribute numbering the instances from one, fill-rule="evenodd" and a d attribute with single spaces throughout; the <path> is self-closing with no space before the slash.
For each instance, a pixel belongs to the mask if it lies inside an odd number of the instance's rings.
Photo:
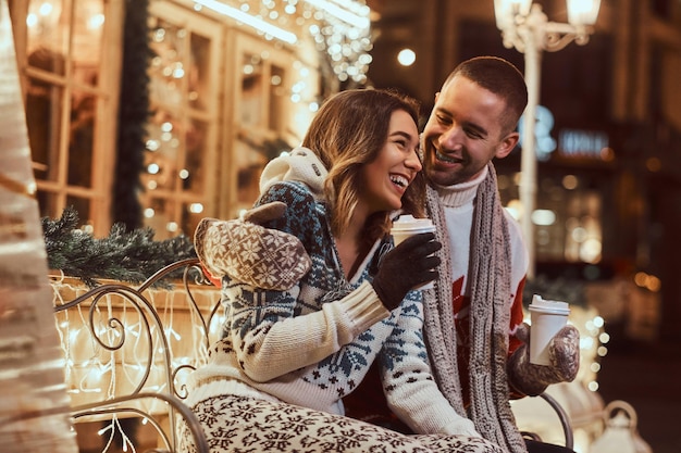
<path id="1" fill-rule="evenodd" d="M 429 216 L 443 244 L 443 266 L 449 270 L 441 268 L 436 289 L 424 291 L 423 334 L 432 376 L 421 369 L 405 377 L 400 367 L 398 377 L 386 366 L 382 380 L 389 407 L 414 432 L 439 430 L 459 414 L 504 451 L 565 452 L 569 450 L 525 442 L 509 404 L 511 398 L 535 395 L 550 383 L 574 379 L 579 367 L 579 332 L 572 326 L 554 339 L 552 366 L 529 363 L 522 324 L 528 254 L 518 224 L 500 204 L 492 164 L 517 144 L 516 125 L 527 101 L 522 75 L 493 56 L 461 63 L 435 96 L 421 151 Z M 391 385 L 411 379 L 422 380 L 425 388 L 432 378 L 441 395 L 431 399 L 430 407 L 410 405 L 399 386 Z M 380 404 L 368 407 L 377 392 L 369 388 L 371 382 L 366 379 L 345 400 L 347 413 L 389 420 Z"/>

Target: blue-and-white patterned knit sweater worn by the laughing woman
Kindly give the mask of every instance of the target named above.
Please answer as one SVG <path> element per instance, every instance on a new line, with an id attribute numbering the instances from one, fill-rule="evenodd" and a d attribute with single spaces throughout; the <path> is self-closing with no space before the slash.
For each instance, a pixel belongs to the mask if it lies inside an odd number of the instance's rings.
<path id="1" fill-rule="evenodd" d="M 359 385 L 382 348 L 394 368 L 411 353 L 425 356 L 421 293 L 410 291 L 391 313 L 370 285 L 389 238 L 376 241 L 350 281 L 344 277 L 321 194 L 324 176 L 321 162 L 305 149 L 265 168 L 269 181 L 257 204 L 280 200 L 288 207 L 263 226 L 298 237 L 312 268 L 286 291 L 223 277 L 223 338 L 209 364 L 191 375 L 189 405 L 239 394 L 343 413 L 340 399 Z"/>

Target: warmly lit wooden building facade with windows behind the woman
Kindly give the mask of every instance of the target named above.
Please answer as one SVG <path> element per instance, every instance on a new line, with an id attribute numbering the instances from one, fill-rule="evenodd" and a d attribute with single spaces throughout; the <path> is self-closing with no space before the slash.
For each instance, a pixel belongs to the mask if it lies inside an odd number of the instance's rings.
<path id="1" fill-rule="evenodd" d="M 165 239 L 236 216 L 371 61 L 363 1 L 9 4 L 41 215 L 74 206 L 98 236 L 121 218 Z"/>

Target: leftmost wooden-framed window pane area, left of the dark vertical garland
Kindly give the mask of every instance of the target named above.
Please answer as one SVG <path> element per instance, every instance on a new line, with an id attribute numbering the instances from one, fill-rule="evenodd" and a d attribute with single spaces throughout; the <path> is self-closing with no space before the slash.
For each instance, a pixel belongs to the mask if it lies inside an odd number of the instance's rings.
<path id="1" fill-rule="evenodd" d="M 117 85 L 108 67 L 120 60 L 120 46 L 107 47 L 106 36 L 121 27 L 104 17 L 121 8 L 104 0 L 10 2 L 40 215 L 59 217 L 71 205 L 83 226 L 100 225 L 100 232 L 110 225 L 117 104 L 104 87 Z"/>

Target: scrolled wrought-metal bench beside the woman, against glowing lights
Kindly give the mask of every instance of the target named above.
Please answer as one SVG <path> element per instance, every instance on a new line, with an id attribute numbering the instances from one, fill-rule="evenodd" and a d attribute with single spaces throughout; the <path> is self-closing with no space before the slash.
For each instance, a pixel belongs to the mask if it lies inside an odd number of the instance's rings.
<path id="1" fill-rule="evenodd" d="M 137 287 L 108 281 L 81 288 L 73 300 L 55 303 L 74 423 L 109 423 L 102 431 L 112 436 L 117 429 L 133 451 L 143 451 L 120 424 L 138 417 L 158 433 L 151 451 L 175 452 L 175 424 L 182 417 L 199 452 L 208 453 L 198 419 L 183 403 L 181 377 L 207 356 L 219 291 L 212 291 L 202 306 L 195 292 L 210 285 L 198 260 L 189 259 L 163 267 Z M 157 306 L 160 300 L 163 306 Z M 175 316 L 184 318 L 177 323 Z M 191 339 L 178 338 L 181 326 Z M 188 341 L 191 344 L 183 345 L 189 349 L 178 351 L 177 343 Z"/>

